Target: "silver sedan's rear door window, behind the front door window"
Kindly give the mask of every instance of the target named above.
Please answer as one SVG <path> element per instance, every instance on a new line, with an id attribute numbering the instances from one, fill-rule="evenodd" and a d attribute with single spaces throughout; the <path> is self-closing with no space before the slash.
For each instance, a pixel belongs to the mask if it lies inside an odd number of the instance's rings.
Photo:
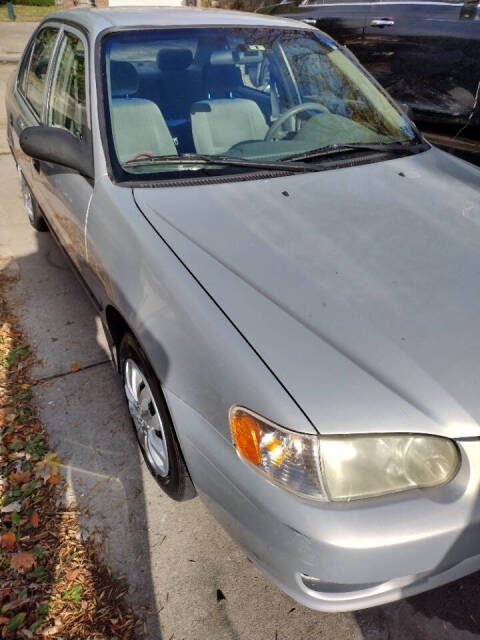
<path id="1" fill-rule="evenodd" d="M 40 31 L 33 45 L 28 72 L 22 79 L 21 89 L 30 106 L 39 117 L 42 113 L 48 65 L 53 54 L 57 35 L 58 29 L 51 27 Z"/>

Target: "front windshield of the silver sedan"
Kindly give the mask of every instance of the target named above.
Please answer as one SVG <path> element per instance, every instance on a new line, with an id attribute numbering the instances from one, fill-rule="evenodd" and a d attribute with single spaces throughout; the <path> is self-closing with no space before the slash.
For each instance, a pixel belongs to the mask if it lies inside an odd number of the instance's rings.
<path id="1" fill-rule="evenodd" d="M 315 31 L 114 32 L 102 65 L 112 160 L 130 178 L 198 171 L 183 154 L 286 164 L 314 149 L 417 140 L 358 63 Z"/>

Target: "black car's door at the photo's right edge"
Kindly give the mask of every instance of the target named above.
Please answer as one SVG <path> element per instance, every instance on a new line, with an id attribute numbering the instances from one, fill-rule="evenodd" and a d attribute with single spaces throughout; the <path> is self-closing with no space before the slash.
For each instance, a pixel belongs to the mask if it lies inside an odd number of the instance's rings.
<path id="1" fill-rule="evenodd" d="M 467 122 L 480 81 L 480 22 L 451 0 L 373 3 L 362 63 L 422 123 Z"/>

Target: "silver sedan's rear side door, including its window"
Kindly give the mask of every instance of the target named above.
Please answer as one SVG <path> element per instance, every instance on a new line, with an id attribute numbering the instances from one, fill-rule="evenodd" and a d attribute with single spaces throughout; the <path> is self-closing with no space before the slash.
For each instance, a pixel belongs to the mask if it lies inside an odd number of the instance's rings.
<path id="1" fill-rule="evenodd" d="M 19 170 L 38 199 L 35 160 L 23 153 L 19 138 L 23 129 L 42 124 L 48 73 L 60 28 L 46 24 L 32 37 L 19 65 L 14 100 L 8 114 L 9 143 Z"/>

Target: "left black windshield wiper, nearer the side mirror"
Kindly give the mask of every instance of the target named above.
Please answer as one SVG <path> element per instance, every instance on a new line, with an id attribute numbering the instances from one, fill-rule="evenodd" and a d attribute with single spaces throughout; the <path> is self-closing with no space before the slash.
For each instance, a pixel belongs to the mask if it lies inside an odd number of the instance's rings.
<path id="1" fill-rule="evenodd" d="M 292 159 L 293 160 L 293 159 Z M 179 155 L 167 156 L 145 156 L 128 160 L 123 163 L 123 167 L 140 167 L 149 164 L 217 164 L 229 165 L 232 167 L 251 167 L 253 169 L 270 169 L 274 171 L 305 172 L 317 171 L 317 167 L 311 164 L 283 161 L 267 162 L 263 160 L 248 160 L 247 158 L 236 158 L 234 156 L 215 156 L 205 153 L 180 153 Z"/>

